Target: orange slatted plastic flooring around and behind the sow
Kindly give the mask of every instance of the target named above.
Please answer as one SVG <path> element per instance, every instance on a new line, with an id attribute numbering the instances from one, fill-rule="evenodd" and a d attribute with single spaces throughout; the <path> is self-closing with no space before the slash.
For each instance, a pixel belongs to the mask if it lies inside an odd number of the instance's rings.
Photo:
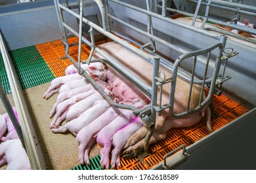
<path id="1" fill-rule="evenodd" d="M 78 39 L 74 37 L 69 40 L 69 43 L 77 41 Z M 103 42 L 98 42 L 98 44 L 102 43 Z M 65 54 L 62 42 L 60 40 L 47 42 L 44 44 L 36 45 L 36 47 L 53 71 L 54 75 L 56 77 L 64 76 L 64 70 L 68 65 L 72 63 L 68 59 L 64 59 Z M 70 48 L 70 54 L 72 57 L 77 58 L 77 50 L 78 46 L 73 46 Z M 83 44 L 81 59 L 87 59 L 89 52 L 90 47 Z M 206 90 L 205 94 L 207 94 Z M 215 111 L 215 118 L 213 118 L 211 121 L 211 127 L 214 131 L 249 111 L 248 108 L 240 105 L 240 103 L 234 101 L 233 99 L 226 97 L 226 95 L 221 95 L 219 97 L 214 95 L 213 107 Z M 194 142 L 199 141 L 203 137 L 207 136 L 209 133 L 207 131 L 205 122 L 205 118 L 202 118 L 198 124 L 193 125 L 192 127 L 171 129 L 168 131 L 167 137 L 163 141 L 159 141 L 150 145 L 152 154 L 144 158 L 133 158 L 129 160 L 121 158 L 120 160 L 122 167 L 117 169 L 151 169 L 163 161 L 163 156 L 168 152 L 171 152 L 171 150 L 175 150 L 175 148 L 178 148 L 182 144 L 189 146 L 190 144 L 193 144 Z"/>

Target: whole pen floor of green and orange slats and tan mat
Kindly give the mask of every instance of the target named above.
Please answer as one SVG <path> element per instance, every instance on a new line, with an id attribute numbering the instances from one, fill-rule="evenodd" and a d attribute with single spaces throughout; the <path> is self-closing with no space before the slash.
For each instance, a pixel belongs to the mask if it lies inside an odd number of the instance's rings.
<path id="1" fill-rule="evenodd" d="M 69 43 L 77 42 L 77 38 L 70 38 Z M 98 42 L 102 44 L 103 42 Z M 70 55 L 77 59 L 77 47 L 70 48 Z M 81 59 L 87 59 L 89 56 L 89 47 L 82 46 Z M 37 132 L 41 149 L 45 158 L 47 169 L 101 169 L 99 165 L 99 148 L 94 146 L 90 153 L 91 167 L 79 165 L 78 162 L 78 144 L 75 137 L 70 133 L 54 134 L 49 125 L 51 119 L 48 117 L 49 111 L 56 100 L 56 94 L 49 100 L 43 99 L 43 93 L 49 87 L 49 82 L 58 76 L 64 76 L 64 70 L 71 63 L 64 54 L 64 46 L 60 40 L 46 42 L 27 48 L 21 48 L 11 51 L 11 57 L 14 60 L 24 95 L 27 101 L 30 115 L 35 122 L 34 128 Z M 0 57 L 0 76 L 1 83 L 7 93 L 10 92 L 7 75 Z M 207 91 L 205 91 L 207 93 Z M 8 95 L 11 104 L 14 105 L 12 94 Z M 213 106 L 215 115 L 212 119 L 212 128 L 217 130 L 224 125 L 232 122 L 239 116 L 249 111 L 249 108 L 240 105 L 237 101 L 230 99 L 226 95 L 213 97 Z M 0 114 L 5 112 L 3 104 L 0 103 Z M 62 123 L 64 124 L 64 123 Z M 167 138 L 163 141 L 150 145 L 150 155 L 143 158 L 133 158 L 125 160 L 121 158 L 120 169 L 151 169 L 163 160 L 163 156 L 175 148 L 186 144 L 189 146 L 199 141 L 209 133 L 205 126 L 205 118 L 201 122 L 186 128 L 171 129 L 167 133 Z M 5 166 L 0 169 L 5 169 Z"/>

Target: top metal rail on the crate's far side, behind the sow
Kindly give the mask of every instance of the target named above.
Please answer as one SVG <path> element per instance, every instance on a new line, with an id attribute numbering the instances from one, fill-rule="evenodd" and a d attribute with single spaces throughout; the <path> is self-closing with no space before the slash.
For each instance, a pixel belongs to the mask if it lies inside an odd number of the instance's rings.
<path id="1" fill-rule="evenodd" d="M 163 20 L 163 21 L 165 21 L 165 22 L 168 22 L 168 23 L 177 25 L 177 26 L 179 26 L 179 27 L 183 27 L 183 28 L 189 29 L 189 30 L 194 31 L 194 32 L 196 32 L 196 33 L 201 33 L 202 35 L 206 35 L 206 36 L 211 37 L 211 38 L 213 38 L 213 39 L 220 40 L 219 35 L 215 35 L 215 34 L 213 34 L 213 33 L 209 33 L 209 32 L 207 32 L 207 31 L 204 31 L 204 30 L 202 30 L 202 29 L 198 29 L 198 28 L 193 27 L 193 26 L 191 26 L 191 25 L 180 24 L 179 22 L 177 22 L 177 21 L 175 21 L 175 20 L 171 20 L 171 18 L 162 17 L 161 15 L 156 14 L 156 13 L 154 13 L 154 12 L 150 12 L 150 11 L 148 11 L 148 10 L 144 10 L 144 9 L 142 9 L 142 8 L 135 7 L 135 6 L 133 6 L 133 5 L 129 5 L 129 4 L 127 4 L 127 3 L 123 3 L 123 2 L 117 1 L 117 0 L 108 0 L 108 1 L 112 1 L 113 3 L 117 3 L 117 4 L 119 4 L 119 5 L 123 5 L 124 7 L 129 7 L 129 8 L 131 8 L 131 9 L 133 9 L 133 10 L 137 10 L 137 11 L 142 12 L 142 13 L 144 13 L 144 14 L 148 14 L 148 15 L 150 15 L 150 16 L 152 16 L 152 17 L 155 17 L 155 18 L 158 18 L 158 19 Z M 109 14 L 108 14 L 108 16 L 109 16 Z"/>

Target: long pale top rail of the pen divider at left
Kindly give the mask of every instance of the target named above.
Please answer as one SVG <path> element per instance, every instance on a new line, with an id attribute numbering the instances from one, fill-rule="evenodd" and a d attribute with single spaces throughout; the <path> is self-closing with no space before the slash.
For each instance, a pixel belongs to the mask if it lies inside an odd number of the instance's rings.
<path id="1" fill-rule="evenodd" d="M 15 67 L 11 61 L 9 53 L 7 52 L 5 42 L 3 41 L 3 35 L 1 33 L 1 30 L 0 49 L 5 64 L 5 69 L 7 71 L 10 87 L 12 90 L 12 97 L 14 99 L 14 104 L 18 112 L 20 127 L 22 128 L 22 135 L 24 137 L 26 152 L 28 154 L 28 158 L 30 159 L 30 165 L 32 169 L 45 169 L 43 153 L 41 152 L 37 136 L 35 135 L 35 130 L 33 129 L 33 122 L 28 112 L 28 107 L 22 93 L 22 88 L 20 82 L 18 81 Z"/>

